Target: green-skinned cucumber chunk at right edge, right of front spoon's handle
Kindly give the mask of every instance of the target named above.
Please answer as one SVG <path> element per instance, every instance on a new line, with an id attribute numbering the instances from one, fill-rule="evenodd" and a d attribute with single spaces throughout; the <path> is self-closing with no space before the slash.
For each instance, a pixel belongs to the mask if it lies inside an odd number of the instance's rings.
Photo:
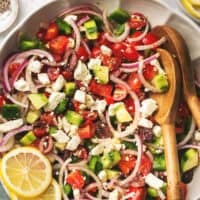
<path id="1" fill-rule="evenodd" d="M 181 155 L 181 171 L 184 173 L 198 166 L 199 155 L 197 150 L 188 149 Z"/>

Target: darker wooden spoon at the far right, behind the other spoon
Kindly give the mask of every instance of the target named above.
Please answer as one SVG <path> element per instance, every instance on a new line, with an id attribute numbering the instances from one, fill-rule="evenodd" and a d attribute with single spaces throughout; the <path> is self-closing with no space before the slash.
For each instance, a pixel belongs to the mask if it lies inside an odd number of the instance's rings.
<path id="1" fill-rule="evenodd" d="M 198 128 L 200 128 L 200 102 L 195 89 L 194 72 L 188 47 L 182 36 L 169 26 L 157 26 L 153 29 L 153 32 L 159 36 L 167 37 L 164 48 L 174 54 L 181 68 L 183 94 Z"/>

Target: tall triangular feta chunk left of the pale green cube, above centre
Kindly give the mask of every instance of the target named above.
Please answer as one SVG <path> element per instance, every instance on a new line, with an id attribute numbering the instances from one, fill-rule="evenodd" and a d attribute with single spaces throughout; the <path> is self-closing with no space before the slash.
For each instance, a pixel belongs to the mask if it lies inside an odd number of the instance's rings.
<path id="1" fill-rule="evenodd" d="M 74 79 L 83 81 L 87 84 L 92 79 L 92 75 L 90 74 L 90 71 L 88 70 L 87 66 L 80 60 L 78 61 L 77 67 L 74 71 Z"/>

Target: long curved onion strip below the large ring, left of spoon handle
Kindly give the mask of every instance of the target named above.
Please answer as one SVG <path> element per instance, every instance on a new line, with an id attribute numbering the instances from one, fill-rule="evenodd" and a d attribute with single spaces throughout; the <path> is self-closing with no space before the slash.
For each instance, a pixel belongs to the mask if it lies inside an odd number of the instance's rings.
<path id="1" fill-rule="evenodd" d="M 135 178 L 135 176 L 137 175 L 138 170 L 140 168 L 140 165 L 141 165 L 142 154 L 143 154 L 143 147 L 142 147 L 143 144 L 142 144 L 142 140 L 141 140 L 140 136 L 138 136 L 137 134 L 135 134 L 135 139 L 136 139 L 137 150 L 138 150 L 136 164 L 135 164 L 135 167 L 134 167 L 133 171 L 131 172 L 131 174 L 126 179 L 119 182 L 119 184 L 122 187 L 126 186 L 128 183 L 130 183 Z"/>

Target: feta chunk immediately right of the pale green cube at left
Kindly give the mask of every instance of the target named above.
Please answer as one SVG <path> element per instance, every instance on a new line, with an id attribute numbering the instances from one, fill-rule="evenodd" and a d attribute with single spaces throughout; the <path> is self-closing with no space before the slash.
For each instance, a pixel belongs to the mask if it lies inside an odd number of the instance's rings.
<path id="1" fill-rule="evenodd" d="M 65 93 L 63 92 L 52 92 L 49 96 L 49 102 L 44 108 L 46 112 L 53 111 L 58 104 L 65 99 Z"/>

